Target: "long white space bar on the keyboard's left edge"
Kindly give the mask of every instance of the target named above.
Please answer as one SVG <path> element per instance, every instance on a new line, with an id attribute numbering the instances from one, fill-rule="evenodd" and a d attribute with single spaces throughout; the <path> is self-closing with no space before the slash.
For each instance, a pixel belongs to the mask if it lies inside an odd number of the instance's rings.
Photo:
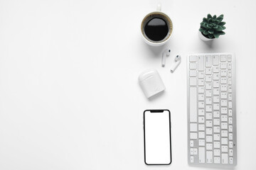
<path id="1" fill-rule="evenodd" d="M 197 95 L 196 86 L 191 86 L 189 89 L 189 118 L 191 122 L 197 122 Z"/>

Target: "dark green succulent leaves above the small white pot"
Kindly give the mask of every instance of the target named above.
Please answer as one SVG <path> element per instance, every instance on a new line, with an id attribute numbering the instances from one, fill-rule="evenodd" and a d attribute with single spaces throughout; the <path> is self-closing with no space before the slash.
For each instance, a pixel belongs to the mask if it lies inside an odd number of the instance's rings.
<path id="1" fill-rule="evenodd" d="M 220 16 L 211 16 L 208 13 L 207 18 L 203 18 L 203 21 L 200 23 L 201 27 L 199 31 L 206 37 L 206 38 L 218 38 L 220 35 L 224 35 L 225 32 L 225 22 L 223 21 L 223 14 Z"/>

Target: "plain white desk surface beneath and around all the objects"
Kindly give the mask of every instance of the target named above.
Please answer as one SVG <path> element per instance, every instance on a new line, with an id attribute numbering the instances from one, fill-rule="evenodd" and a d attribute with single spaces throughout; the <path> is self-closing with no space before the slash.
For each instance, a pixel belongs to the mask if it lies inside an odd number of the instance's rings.
<path id="1" fill-rule="evenodd" d="M 238 166 L 255 169 L 256 2 L 161 1 L 174 22 L 166 68 L 141 37 L 159 1 L 0 1 L 0 169 L 200 169 L 187 164 L 186 55 L 235 52 Z M 226 35 L 198 38 L 207 13 L 224 14 Z M 183 61 L 174 74 L 171 60 Z M 154 100 L 137 77 L 159 71 Z M 146 166 L 142 113 L 171 111 L 169 166 Z"/>

